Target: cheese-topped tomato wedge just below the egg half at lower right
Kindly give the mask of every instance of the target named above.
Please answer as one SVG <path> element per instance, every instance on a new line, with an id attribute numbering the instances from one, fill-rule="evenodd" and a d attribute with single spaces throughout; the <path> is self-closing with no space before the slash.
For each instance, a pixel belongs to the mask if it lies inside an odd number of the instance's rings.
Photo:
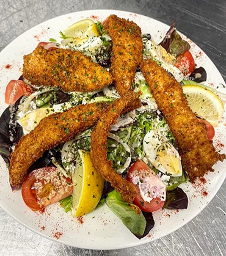
<path id="1" fill-rule="evenodd" d="M 144 161 L 139 159 L 129 168 L 128 174 L 126 175 L 126 180 L 130 181 L 137 190 L 136 198 L 134 199 L 133 203 L 137 205 L 140 210 L 153 212 L 158 211 L 163 207 L 166 200 L 166 186 L 164 183 L 162 183 L 155 172 L 153 172 L 153 170 L 151 170 L 150 167 L 144 163 Z M 147 180 L 150 180 L 150 183 L 147 183 Z M 144 200 L 140 191 L 140 183 L 144 184 L 144 188 L 147 189 L 148 192 L 155 190 L 157 195 L 159 194 L 159 191 L 162 193 L 163 190 L 164 195 L 162 194 L 161 197 L 164 198 L 154 196 L 150 202 Z"/>

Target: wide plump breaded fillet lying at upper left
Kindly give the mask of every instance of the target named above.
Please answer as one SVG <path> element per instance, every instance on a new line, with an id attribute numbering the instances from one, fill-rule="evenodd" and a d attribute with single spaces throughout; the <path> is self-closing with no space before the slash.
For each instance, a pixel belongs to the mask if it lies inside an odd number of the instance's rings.
<path id="1" fill-rule="evenodd" d="M 42 46 L 24 56 L 23 77 L 31 84 L 55 86 L 65 92 L 92 92 L 112 83 L 107 70 L 79 51 L 49 51 Z"/>

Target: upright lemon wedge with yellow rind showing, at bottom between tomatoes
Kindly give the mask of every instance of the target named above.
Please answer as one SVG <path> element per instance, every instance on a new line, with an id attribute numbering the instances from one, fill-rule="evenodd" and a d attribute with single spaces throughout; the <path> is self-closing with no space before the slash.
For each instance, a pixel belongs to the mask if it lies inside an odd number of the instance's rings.
<path id="1" fill-rule="evenodd" d="M 73 200 L 71 212 L 73 217 L 80 217 L 95 209 L 101 199 L 104 179 L 94 169 L 90 153 L 78 150 L 79 157 L 72 175 Z"/>

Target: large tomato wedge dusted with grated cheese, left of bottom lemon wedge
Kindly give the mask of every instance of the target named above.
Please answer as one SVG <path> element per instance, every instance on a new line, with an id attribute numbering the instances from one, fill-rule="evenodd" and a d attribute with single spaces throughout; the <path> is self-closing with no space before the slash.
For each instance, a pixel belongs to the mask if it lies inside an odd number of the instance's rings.
<path id="1" fill-rule="evenodd" d="M 32 211 L 38 211 L 51 203 L 70 196 L 73 185 L 56 167 L 33 170 L 24 180 L 21 193 L 24 203 Z"/>

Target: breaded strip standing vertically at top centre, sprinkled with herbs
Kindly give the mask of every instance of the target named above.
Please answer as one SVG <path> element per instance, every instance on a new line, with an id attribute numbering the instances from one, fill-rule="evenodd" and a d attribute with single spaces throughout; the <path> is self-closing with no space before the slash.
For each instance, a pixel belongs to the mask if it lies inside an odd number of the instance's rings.
<path id="1" fill-rule="evenodd" d="M 141 29 L 133 21 L 116 15 L 110 15 L 104 21 L 104 29 L 113 43 L 110 72 L 117 92 L 123 96 L 131 89 L 136 68 L 142 60 Z"/>

